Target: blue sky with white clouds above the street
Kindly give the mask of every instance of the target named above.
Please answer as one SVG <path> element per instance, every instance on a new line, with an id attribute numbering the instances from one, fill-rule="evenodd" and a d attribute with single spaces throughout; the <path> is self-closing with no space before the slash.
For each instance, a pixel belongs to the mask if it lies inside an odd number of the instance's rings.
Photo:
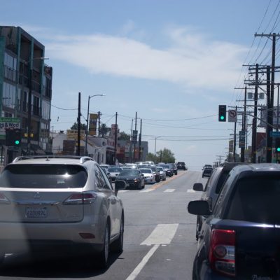
<path id="1" fill-rule="evenodd" d="M 218 105 L 243 111 L 244 64 L 270 64 L 279 0 L 0 0 L 1 25 L 45 45 L 52 66 L 52 131 L 102 113 L 120 132 L 142 120 L 149 152 L 167 148 L 190 169 L 225 159 L 234 123 Z M 276 57 L 278 58 L 278 57 Z M 270 60 L 269 60 L 270 59 Z M 240 88 L 240 89 L 237 89 Z M 237 133 L 241 130 L 241 116 Z M 250 137 L 250 134 L 248 134 Z M 239 152 L 239 148 L 237 148 Z"/>

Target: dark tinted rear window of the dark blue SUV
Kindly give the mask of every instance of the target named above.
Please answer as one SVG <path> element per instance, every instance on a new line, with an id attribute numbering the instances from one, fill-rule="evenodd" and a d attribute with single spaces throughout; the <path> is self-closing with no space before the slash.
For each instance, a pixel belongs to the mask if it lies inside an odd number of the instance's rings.
<path id="1" fill-rule="evenodd" d="M 280 225 L 280 177 L 241 179 L 232 194 L 228 219 Z"/>

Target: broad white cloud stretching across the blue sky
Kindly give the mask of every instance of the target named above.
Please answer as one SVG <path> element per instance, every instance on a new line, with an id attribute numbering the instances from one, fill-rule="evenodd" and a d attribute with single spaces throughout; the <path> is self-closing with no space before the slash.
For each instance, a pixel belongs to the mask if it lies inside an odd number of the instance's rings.
<path id="1" fill-rule="evenodd" d="M 134 28 L 128 22 L 127 31 Z M 211 41 L 190 29 L 169 29 L 170 48 L 156 49 L 124 36 L 60 36 L 46 44 L 47 54 L 91 73 L 166 80 L 187 87 L 228 89 L 239 75 L 247 49 Z"/>

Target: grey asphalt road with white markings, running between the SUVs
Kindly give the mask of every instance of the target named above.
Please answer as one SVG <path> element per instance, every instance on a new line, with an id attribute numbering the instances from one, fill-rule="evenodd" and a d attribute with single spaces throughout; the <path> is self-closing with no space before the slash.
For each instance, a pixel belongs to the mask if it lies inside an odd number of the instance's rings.
<path id="1" fill-rule="evenodd" d="M 125 207 L 124 251 L 111 255 L 108 269 L 94 260 L 38 258 L 8 255 L 1 279 L 191 279 L 196 216 L 186 210 L 201 193 L 193 183 L 206 183 L 201 172 L 179 171 L 167 181 L 146 185 L 144 190 L 120 190 Z M 59 252 L 57 252 L 59 253 Z"/>

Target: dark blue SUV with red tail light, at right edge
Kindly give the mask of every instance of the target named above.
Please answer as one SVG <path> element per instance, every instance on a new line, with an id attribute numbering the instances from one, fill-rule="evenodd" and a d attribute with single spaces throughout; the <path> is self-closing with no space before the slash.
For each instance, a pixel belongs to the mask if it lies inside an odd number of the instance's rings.
<path id="1" fill-rule="evenodd" d="M 234 167 L 213 211 L 188 204 L 202 224 L 193 279 L 280 279 L 280 165 Z"/>

